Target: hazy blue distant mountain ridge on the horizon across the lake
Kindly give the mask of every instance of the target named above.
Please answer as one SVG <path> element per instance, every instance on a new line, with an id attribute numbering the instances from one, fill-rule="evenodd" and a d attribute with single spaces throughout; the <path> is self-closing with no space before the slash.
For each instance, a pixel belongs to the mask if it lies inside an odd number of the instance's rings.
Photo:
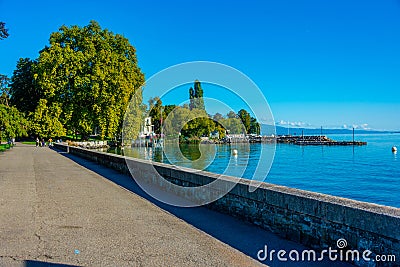
<path id="1" fill-rule="evenodd" d="M 273 126 L 267 125 L 267 124 L 261 124 L 261 134 L 262 135 L 270 135 L 273 132 Z M 321 128 L 297 128 L 297 127 L 282 127 L 282 126 L 276 126 L 276 134 L 277 135 L 287 135 L 288 132 L 291 135 L 301 135 L 304 133 L 304 135 L 320 135 L 321 134 Z M 322 128 L 322 134 L 327 135 L 327 134 L 352 134 L 353 130 L 352 129 L 324 129 Z M 355 130 L 356 134 L 383 134 L 383 133 L 396 133 L 396 132 L 390 132 L 390 131 L 376 131 L 376 130 L 360 130 L 356 129 Z"/>

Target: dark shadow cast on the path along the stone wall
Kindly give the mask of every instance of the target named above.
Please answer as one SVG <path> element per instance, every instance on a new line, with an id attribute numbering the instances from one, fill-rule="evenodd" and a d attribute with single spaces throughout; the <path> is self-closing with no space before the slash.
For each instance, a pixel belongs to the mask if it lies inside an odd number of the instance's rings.
<path id="1" fill-rule="evenodd" d="M 77 164 L 103 176 L 104 178 L 114 182 L 115 184 L 118 184 L 119 186 L 129 190 L 130 192 L 143 197 L 144 199 L 150 201 L 161 209 L 168 211 L 169 213 L 186 221 L 197 229 L 200 229 L 201 231 L 211 235 L 212 237 L 220 240 L 225 244 L 230 245 L 231 247 L 243 252 L 244 254 L 256 260 L 258 260 L 258 251 L 264 249 L 265 245 L 268 246 L 268 251 L 271 251 L 272 249 L 276 251 L 283 249 L 287 251 L 287 253 L 289 253 L 289 251 L 295 249 L 300 252 L 300 255 L 302 250 L 309 249 L 301 244 L 278 237 L 272 232 L 266 231 L 258 226 L 246 223 L 227 214 L 210 210 L 206 207 L 182 208 L 167 205 L 149 196 L 138 186 L 135 180 L 128 175 L 121 174 L 115 170 L 101 166 L 92 161 L 82 159 L 75 155 L 60 152 L 56 149 L 54 150 L 57 151 L 60 155 L 73 160 Z M 335 244 L 332 244 L 332 247 L 334 246 Z M 274 256 L 274 261 L 266 260 L 263 263 L 269 266 L 353 266 L 344 262 L 331 261 L 280 262 L 277 260 L 276 254 Z M 27 266 L 31 267 L 41 265 Z"/>

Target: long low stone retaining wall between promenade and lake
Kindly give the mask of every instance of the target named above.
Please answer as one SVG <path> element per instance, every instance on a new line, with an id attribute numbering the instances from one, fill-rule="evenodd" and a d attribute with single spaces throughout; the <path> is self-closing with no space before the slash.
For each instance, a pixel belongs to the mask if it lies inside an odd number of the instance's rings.
<path id="1" fill-rule="evenodd" d="M 67 146 L 55 146 L 67 150 Z M 194 172 L 191 169 L 77 147 L 69 147 L 68 150 L 69 153 L 127 174 L 130 174 L 129 165 L 133 170 L 132 175 L 147 179 L 167 191 L 174 189 L 169 183 L 151 174 L 150 170 L 155 168 L 166 180 L 186 187 L 205 185 L 215 179 L 226 182 L 227 186 L 234 183 L 228 194 L 207 206 L 320 251 L 328 247 L 337 249 L 337 240 L 344 238 L 347 241 L 346 250 L 357 249 L 360 257 L 368 249 L 373 253 L 371 258 L 375 255 L 394 255 L 397 260 L 395 263 L 356 261 L 355 264 L 359 266 L 400 266 L 398 208 L 269 183 L 262 183 L 256 191 L 249 192 L 250 181 L 245 179 L 204 171 Z"/>

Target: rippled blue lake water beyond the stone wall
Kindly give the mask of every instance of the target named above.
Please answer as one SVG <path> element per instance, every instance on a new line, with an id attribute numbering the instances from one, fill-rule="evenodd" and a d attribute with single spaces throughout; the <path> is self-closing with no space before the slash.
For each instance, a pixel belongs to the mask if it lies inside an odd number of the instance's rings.
<path id="1" fill-rule="evenodd" d="M 335 140 L 352 140 L 351 135 L 329 135 Z M 357 135 L 366 146 L 296 146 L 277 144 L 266 182 L 400 208 L 400 134 Z M 124 155 L 172 163 L 215 173 L 251 179 L 261 149 L 270 144 L 251 145 L 166 145 L 165 153 L 152 148 L 125 148 Z M 232 149 L 238 156 L 232 156 Z M 117 150 L 109 150 L 118 153 Z M 181 153 L 182 152 L 182 153 Z M 182 154 L 184 157 L 182 157 Z M 265 166 L 264 166 L 265 165 Z M 268 162 L 259 168 L 267 170 Z M 264 177 L 256 177 L 260 180 Z"/>

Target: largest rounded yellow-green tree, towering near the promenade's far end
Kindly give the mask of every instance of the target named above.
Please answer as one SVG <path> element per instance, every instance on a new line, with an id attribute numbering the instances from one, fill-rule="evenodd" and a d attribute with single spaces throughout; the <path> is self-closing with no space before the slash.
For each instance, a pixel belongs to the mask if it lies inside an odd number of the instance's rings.
<path id="1" fill-rule="evenodd" d="M 46 106 L 61 108 L 60 122 L 83 136 L 95 127 L 101 137 L 116 136 L 130 99 L 135 96 L 135 103 L 142 102 L 144 75 L 135 48 L 95 21 L 85 27 L 62 26 L 52 33 L 50 46 L 40 52 L 34 77 Z M 140 105 L 129 106 L 129 111 L 140 114 Z"/>

